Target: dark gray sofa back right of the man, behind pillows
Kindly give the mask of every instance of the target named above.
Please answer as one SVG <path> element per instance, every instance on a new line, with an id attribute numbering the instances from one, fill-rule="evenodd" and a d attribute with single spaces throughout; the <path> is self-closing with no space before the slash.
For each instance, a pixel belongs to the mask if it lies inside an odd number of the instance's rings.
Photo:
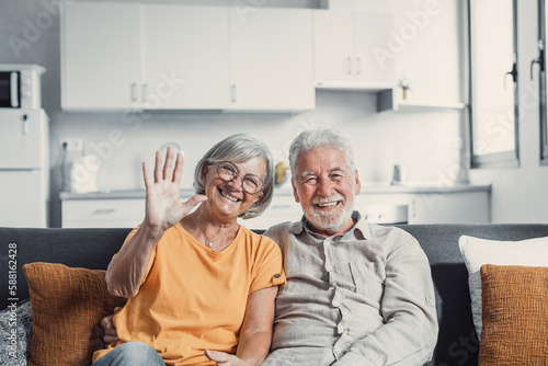
<path id="1" fill-rule="evenodd" d="M 468 271 L 458 248 L 460 236 L 516 241 L 548 237 L 548 225 L 402 225 L 423 248 L 436 289 L 439 335 L 427 365 L 478 365 L 479 341 L 473 328 Z"/>

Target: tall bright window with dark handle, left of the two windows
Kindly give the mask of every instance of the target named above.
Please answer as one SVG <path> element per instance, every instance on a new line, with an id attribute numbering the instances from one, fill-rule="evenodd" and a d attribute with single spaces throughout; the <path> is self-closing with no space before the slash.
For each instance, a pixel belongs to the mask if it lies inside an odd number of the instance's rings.
<path id="1" fill-rule="evenodd" d="M 517 0 L 469 0 L 471 168 L 518 167 Z"/>

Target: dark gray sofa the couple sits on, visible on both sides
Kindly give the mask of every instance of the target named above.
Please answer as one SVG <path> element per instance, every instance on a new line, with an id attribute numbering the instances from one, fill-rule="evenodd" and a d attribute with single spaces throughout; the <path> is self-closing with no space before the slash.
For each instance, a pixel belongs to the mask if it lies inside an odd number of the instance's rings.
<path id="1" fill-rule="evenodd" d="M 548 225 L 401 225 L 415 237 L 429 256 L 436 288 L 439 336 L 429 365 L 477 365 L 478 339 L 473 329 L 468 273 L 458 249 L 463 235 L 523 240 L 548 237 Z M 62 263 L 106 268 L 130 229 L 16 229 L 0 228 L 0 309 L 8 306 L 9 244 L 16 244 L 18 297 L 28 298 L 22 272 L 31 262 Z"/>

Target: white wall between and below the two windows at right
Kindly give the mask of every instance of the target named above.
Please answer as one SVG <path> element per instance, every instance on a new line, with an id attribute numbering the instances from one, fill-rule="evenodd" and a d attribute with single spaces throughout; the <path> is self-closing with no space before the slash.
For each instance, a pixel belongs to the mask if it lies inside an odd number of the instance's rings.
<path id="1" fill-rule="evenodd" d="M 520 0 L 518 78 L 520 78 L 520 162 L 517 169 L 472 170 L 471 179 L 492 181 L 491 218 L 493 222 L 548 222 L 548 167 L 539 164 L 540 129 L 538 115 L 538 76 L 530 80 L 530 60 L 537 52 L 537 0 Z M 537 69 L 535 69 L 536 71 Z"/>

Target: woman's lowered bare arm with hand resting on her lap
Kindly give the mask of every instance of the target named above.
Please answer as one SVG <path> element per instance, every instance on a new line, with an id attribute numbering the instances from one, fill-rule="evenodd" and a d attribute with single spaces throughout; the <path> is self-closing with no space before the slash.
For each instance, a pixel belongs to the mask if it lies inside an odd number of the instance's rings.
<path id="1" fill-rule="evenodd" d="M 213 351 L 206 351 L 206 356 L 217 366 L 260 365 L 271 347 L 277 290 L 272 286 L 250 295 L 236 356 Z"/>

